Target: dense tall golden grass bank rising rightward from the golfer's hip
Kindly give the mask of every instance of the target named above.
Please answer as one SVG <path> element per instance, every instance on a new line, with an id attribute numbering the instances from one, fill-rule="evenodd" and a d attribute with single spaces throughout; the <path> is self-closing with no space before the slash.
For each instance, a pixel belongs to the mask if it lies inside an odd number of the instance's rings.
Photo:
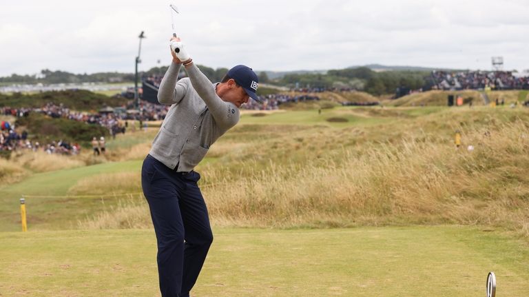
<path id="1" fill-rule="evenodd" d="M 341 163 L 271 162 L 267 170 L 244 168 L 226 182 L 203 187 L 213 221 L 242 226 L 351 226 L 399 223 L 484 224 L 527 229 L 529 131 L 506 125 L 494 136 L 466 132 L 469 152 L 451 143 L 382 145 Z M 206 173 L 205 173 L 206 174 Z"/>

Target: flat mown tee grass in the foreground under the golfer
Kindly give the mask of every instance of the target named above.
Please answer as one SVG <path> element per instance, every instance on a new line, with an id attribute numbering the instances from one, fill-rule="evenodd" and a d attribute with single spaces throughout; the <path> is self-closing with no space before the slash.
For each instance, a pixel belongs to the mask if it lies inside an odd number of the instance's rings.
<path id="1" fill-rule="evenodd" d="M 490 231 L 490 230 L 486 230 Z M 527 296 L 526 243 L 475 227 L 226 229 L 194 296 Z M 0 234 L 1 296 L 159 296 L 152 230 Z"/>

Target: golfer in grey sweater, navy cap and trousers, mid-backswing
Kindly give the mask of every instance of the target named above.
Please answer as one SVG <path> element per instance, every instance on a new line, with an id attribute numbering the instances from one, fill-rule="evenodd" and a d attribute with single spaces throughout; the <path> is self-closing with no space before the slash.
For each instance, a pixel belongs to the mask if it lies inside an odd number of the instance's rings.
<path id="1" fill-rule="evenodd" d="M 213 240 L 194 167 L 238 123 L 238 107 L 249 97 L 258 100 L 258 77 L 251 68 L 237 65 L 213 84 L 178 37 L 170 42 L 173 61 L 160 83 L 158 101 L 171 107 L 143 161 L 141 185 L 158 243 L 162 296 L 187 297 Z M 189 77 L 178 80 L 182 65 Z"/>

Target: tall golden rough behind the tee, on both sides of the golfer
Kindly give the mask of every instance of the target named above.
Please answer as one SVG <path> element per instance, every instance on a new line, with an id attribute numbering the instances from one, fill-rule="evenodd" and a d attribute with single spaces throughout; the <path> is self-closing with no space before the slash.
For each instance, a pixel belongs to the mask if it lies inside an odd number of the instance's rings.
<path id="1" fill-rule="evenodd" d="M 212 147 L 218 161 L 197 168 L 200 187 L 214 225 L 455 223 L 529 236 L 527 119 L 524 110 L 479 107 L 366 127 L 247 125 Z M 125 177 L 121 187 L 138 181 Z M 145 201 L 127 203 L 82 226 L 149 227 Z"/>

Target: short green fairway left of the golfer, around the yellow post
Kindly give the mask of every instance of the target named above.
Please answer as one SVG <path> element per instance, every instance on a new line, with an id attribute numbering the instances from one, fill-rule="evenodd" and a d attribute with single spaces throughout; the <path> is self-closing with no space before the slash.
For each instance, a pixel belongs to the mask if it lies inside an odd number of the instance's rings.
<path id="1" fill-rule="evenodd" d="M 70 197 L 68 190 L 83 178 L 89 178 L 105 172 L 138 172 L 141 160 L 121 163 L 103 163 L 77 167 L 69 170 L 58 170 L 33 174 L 21 183 L 6 185 L 0 188 L 0 231 L 19 229 L 19 198 L 26 198 L 28 222 L 35 229 L 72 228 L 79 219 L 101 212 L 109 205 L 115 205 L 119 198 L 101 196 Z M 140 181 L 134 181 L 138 184 Z M 98 185 L 94 184 L 94 188 Z M 108 192 L 107 194 L 113 194 Z M 105 201 L 107 205 L 105 205 Z"/>

